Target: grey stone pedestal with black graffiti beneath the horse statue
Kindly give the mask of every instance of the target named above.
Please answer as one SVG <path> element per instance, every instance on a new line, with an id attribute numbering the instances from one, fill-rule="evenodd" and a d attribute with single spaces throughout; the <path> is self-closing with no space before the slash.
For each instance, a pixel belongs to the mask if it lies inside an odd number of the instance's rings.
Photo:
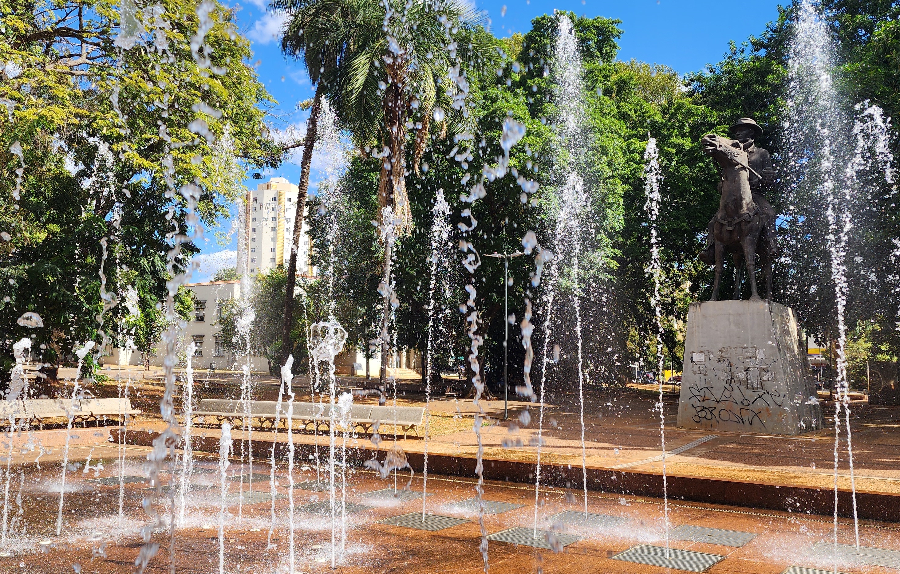
<path id="1" fill-rule="evenodd" d="M 770 300 L 691 303 L 680 428 L 799 435 L 822 409 L 793 309 Z"/>

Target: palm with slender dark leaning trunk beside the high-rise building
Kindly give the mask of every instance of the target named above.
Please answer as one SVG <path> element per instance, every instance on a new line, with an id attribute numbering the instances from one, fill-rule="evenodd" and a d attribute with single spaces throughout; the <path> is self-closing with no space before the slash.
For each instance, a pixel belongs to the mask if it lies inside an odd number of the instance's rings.
<path id="1" fill-rule="evenodd" d="M 282 360 L 293 353 L 291 327 L 293 326 L 293 290 L 297 279 L 297 251 L 306 210 L 306 193 L 310 187 L 310 165 L 316 143 L 322 95 L 327 82 L 323 76 L 340 66 L 347 53 L 355 47 L 353 37 L 347 33 L 346 24 L 354 22 L 365 12 L 359 0 L 273 0 L 270 7 L 287 12 L 289 20 L 284 25 L 282 50 L 288 56 L 302 59 L 310 82 L 316 86 L 312 99 L 310 119 L 303 141 L 300 168 L 299 193 L 291 238 L 291 256 L 287 268 L 287 289 L 284 293 L 284 323 L 282 327 Z"/>

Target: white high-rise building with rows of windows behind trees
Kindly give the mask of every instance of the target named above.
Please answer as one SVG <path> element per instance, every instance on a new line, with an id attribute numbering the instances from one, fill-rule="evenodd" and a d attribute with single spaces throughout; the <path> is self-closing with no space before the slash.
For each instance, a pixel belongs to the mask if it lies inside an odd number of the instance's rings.
<path id="1" fill-rule="evenodd" d="M 238 247 L 238 274 L 245 269 L 250 274 L 265 273 L 278 265 L 288 265 L 298 193 L 298 187 L 284 177 L 273 177 L 265 184 L 258 184 L 257 191 L 247 192 L 243 241 Z M 310 226 L 306 221 L 304 217 L 297 274 L 313 276 L 316 273 L 309 263 Z M 245 254 L 246 260 L 240 261 Z"/>

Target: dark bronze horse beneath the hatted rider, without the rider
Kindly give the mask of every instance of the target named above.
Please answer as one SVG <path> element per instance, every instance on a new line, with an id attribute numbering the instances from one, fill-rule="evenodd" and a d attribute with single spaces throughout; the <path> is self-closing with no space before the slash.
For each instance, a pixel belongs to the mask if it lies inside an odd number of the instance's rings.
<path id="1" fill-rule="evenodd" d="M 722 167 L 722 180 L 718 185 L 721 194 L 719 210 L 710 222 L 716 253 L 716 281 L 713 283 L 713 296 L 710 300 L 719 298 L 719 281 L 722 278 L 725 252 L 734 256 L 734 299 L 740 299 L 741 296 L 744 263 L 750 278 L 750 298 L 760 299 L 756 287 L 756 254 L 760 255 L 766 282 L 766 299 L 769 299 L 772 291 L 772 260 L 776 254 L 775 211 L 762 195 L 753 195 L 751 192 L 752 167 L 741 142 L 716 134 L 707 134 L 700 141 L 703 150 Z"/>

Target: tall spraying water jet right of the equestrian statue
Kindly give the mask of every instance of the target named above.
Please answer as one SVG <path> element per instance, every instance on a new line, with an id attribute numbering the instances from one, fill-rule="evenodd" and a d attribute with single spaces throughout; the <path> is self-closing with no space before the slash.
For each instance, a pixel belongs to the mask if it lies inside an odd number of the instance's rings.
<path id="1" fill-rule="evenodd" d="M 860 182 L 860 175 L 881 171 L 884 180 L 893 183 L 894 170 L 888 147 L 889 121 L 885 120 L 878 106 L 869 106 L 868 103 L 860 103 L 851 111 L 846 98 L 838 94 L 833 85 L 833 70 L 838 65 L 835 54 L 829 23 L 812 2 L 804 0 L 797 9 L 797 22 L 794 23 L 794 35 L 788 51 L 788 97 L 782 134 L 788 159 L 788 201 L 785 202 L 788 212 L 783 220 L 787 223 L 786 227 L 792 230 L 788 241 L 797 238 L 788 245 L 802 247 L 802 242 L 808 242 L 809 238 L 814 238 L 814 241 L 821 239 L 828 247 L 830 257 L 837 324 L 833 462 L 833 543 L 836 557 L 842 418 L 846 428 L 858 552 L 860 547 L 845 320 L 850 291 L 847 251 L 853 229 L 852 213 L 854 205 L 859 205 L 857 197 L 867 187 Z M 852 130 L 849 129 L 851 125 Z M 827 229 L 824 238 L 822 229 Z M 812 279 L 815 280 L 815 277 Z M 815 287 L 817 284 L 814 283 L 808 289 L 812 292 Z"/>

